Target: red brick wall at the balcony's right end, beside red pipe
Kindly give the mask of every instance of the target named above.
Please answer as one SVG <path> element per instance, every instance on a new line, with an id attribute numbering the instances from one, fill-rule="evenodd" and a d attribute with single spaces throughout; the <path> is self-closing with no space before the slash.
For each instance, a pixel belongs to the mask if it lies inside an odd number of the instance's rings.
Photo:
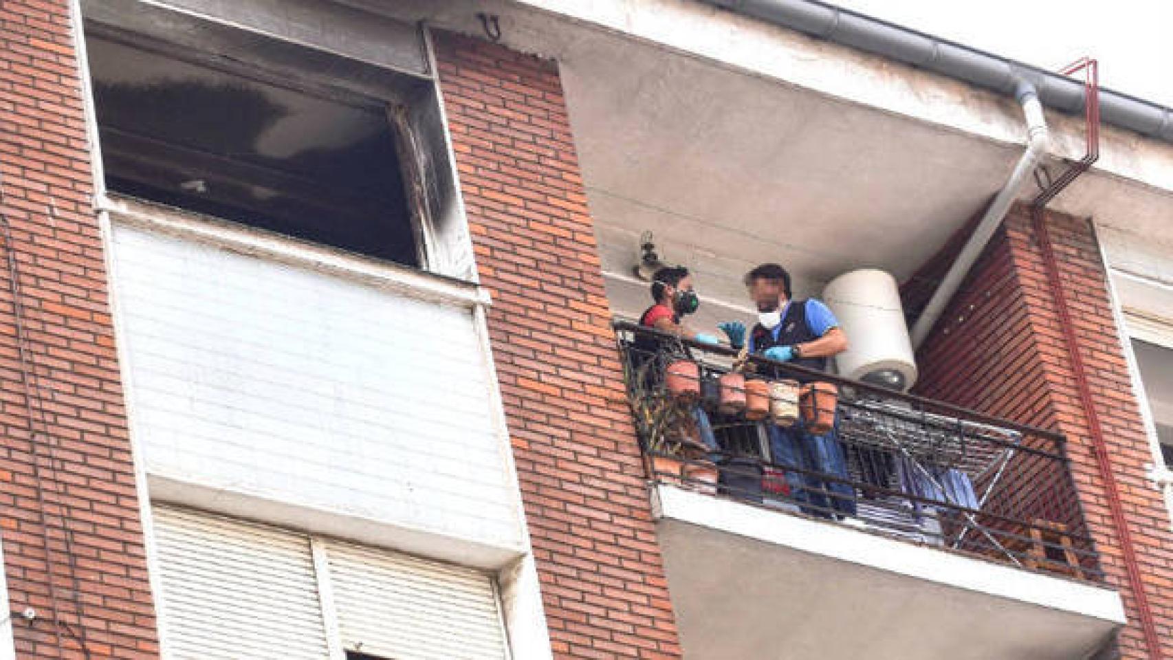
<path id="1" fill-rule="evenodd" d="M 1046 222 L 1145 597 L 1164 655 L 1173 658 L 1173 533 L 1160 492 L 1144 476 L 1152 454 L 1112 315 L 1106 274 L 1089 222 L 1056 213 L 1049 213 Z M 1066 435 L 1103 569 L 1128 612 L 1121 653 L 1132 659 L 1157 658 L 1157 651 L 1145 645 L 1038 238 L 1029 213 L 1016 209 L 922 346 L 916 389 Z"/>

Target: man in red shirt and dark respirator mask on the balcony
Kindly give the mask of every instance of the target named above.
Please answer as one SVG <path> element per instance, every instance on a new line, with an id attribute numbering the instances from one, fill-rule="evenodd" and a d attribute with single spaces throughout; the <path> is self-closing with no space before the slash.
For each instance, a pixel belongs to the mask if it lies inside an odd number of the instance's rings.
<path id="1" fill-rule="evenodd" d="M 693 332 L 682 322 L 684 317 L 694 313 L 700 307 L 700 299 L 692 286 L 689 268 L 670 266 L 656 271 L 652 275 L 651 293 L 653 304 L 644 311 L 639 318 L 639 325 L 701 343 L 719 343 L 716 336 Z M 637 365 L 647 363 L 656 355 L 670 349 L 671 347 L 666 346 L 659 338 L 637 336 L 635 342 L 636 362 Z M 657 374 L 653 377 L 658 377 L 656 369 L 652 369 L 651 373 Z M 713 434 L 713 427 L 705 409 L 700 406 L 693 407 L 692 417 L 697 422 L 700 442 L 710 451 L 718 451 L 720 448 L 717 443 L 717 436 Z"/>

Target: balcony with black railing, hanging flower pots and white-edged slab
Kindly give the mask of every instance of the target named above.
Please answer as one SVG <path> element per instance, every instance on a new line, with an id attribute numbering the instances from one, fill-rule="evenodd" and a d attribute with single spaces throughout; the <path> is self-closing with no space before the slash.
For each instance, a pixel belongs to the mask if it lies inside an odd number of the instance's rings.
<path id="1" fill-rule="evenodd" d="M 690 658 L 1086 658 L 1123 622 L 1062 436 L 616 328 Z M 754 421 L 738 369 L 829 386 Z"/>

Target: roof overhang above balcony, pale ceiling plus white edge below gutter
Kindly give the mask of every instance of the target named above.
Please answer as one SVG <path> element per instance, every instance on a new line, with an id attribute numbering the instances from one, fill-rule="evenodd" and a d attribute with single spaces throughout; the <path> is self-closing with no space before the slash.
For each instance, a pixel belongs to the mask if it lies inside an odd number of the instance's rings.
<path id="1" fill-rule="evenodd" d="M 504 45 L 557 60 L 604 268 L 630 272 L 650 230 L 703 295 L 735 305 L 764 260 L 789 266 L 800 294 L 862 266 L 907 278 L 998 191 L 1024 138 L 1013 100 L 700 2 L 343 1 L 477 36 L 486 12 Z M 1079 118 L 1050 118 L 1055 149 L 1080 156 Z M 1173 250 L 1173 149 L 1116 131 L 1105 154 L 1135 178 L 1085 175 L 1052 206 Z M 644 304 L 643 287 L 610 284 L 617 311 Z"/>

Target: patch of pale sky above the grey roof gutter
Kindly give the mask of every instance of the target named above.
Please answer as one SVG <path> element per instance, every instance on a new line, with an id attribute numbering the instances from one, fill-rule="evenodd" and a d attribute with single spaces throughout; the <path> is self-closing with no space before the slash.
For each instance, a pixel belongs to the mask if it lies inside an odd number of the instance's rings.
<path id="1" fill-rule="evenodd" d="M 1045 69 L 1084 55 L 1100 83 L 1173 107 L 1173 0 L 829 0 Z"/>

